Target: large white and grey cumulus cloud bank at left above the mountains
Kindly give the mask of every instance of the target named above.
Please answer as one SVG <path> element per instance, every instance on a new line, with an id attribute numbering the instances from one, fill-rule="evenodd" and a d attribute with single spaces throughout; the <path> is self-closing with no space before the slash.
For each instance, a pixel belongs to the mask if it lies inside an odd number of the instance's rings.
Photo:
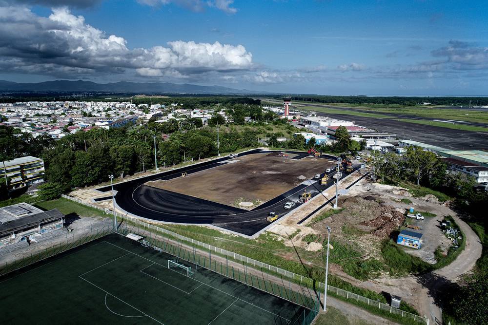
<path id="1" fill-rule="evenodd" d="M 132 71 L 138 76 L 183 78 L 245 71 L 253 62 L 243 45 L 176 40 L 131 49 L 123 37 L 106 35 L 66 7 L 52 9 L 46 18 L 25 6 L 0 6 L 0 70 L 32 73 L 33 67 L 52 76 Z"/>

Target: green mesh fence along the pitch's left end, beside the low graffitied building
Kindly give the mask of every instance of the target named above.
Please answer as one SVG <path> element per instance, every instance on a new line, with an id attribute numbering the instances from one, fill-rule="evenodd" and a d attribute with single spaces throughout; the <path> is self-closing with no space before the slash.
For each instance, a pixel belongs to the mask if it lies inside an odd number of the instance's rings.
<path id="1" fill-rule="evenodd" d="M 51 247 L 31 251 L 28 254 L 24 253 L 21 258 L 14 259 L 10 263 L 0 262 L 0 276 L 26 267 L 30 264 L 42 261 L 51 256 L 60 254 L 66 250 L 91 242 L 112 232 L 114 232 L 113 225 L 106 225 L 102 229 L 91 229 L 90 232 L 86 232 L 78 236 L 75 236 L 73 232 L 66 232 L 66 240 L 63 239 Z M 62 237 L 62 235 L 60 236 Z"/>

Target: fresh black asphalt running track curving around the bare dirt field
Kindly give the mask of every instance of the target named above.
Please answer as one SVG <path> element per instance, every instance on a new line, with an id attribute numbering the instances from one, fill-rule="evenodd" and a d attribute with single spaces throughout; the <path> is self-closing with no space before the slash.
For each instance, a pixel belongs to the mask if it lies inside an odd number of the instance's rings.
<path id="1" fill-rule="evenodd" d="M 308 153 L 296 151 L 283 151 L 284 153 L 293 153 L 297 156 L 291 159 L 302 159 L 308 156 Z M 252 150 L 240 153 L 240 156 L 256 153 L 272 153 L 272 151 Z M 321 158 L 336 160 L 335 156 L 322 155 Z M 148 181 L 169 180 L 181 177 L 183 172 L 191 174 L 194 172 L 204 171 L 228 163 L 228 156 L 219 159 L 203 162 L 200 164 L 183 167 L 177 170 L 161 172 L 155 175 L 142 177 L 114 185 L 115 203 L 125 214 L 142 217 L 154 221 L 183 224 L 209 224 L 230 231 L 238 232 L 247 236 L 252 236 L 256 232 L 269 225 L 266 217 L 269 212 L 274 211 L 282 217 L 287 210 L 284 205 L 287 201 L 297 202 L 295 207 L 302 205 L 300 197 L 306 189 L 312 197 L 320 194 L 326 188 L 332 185 L 333 178 L 329 177 L 326 185 L 320 185 L 319 181 L 308 180 L 265 202 L 253 210 L 243 210 L 224 204 L 199 199 L 172 191 L 154 188 L 144 185 Z M 329 173 L 332 176 L 335 172 Z M 344 172 L 343 172 L 344 174 Z M 324 173 L 321 175 L 323 176 Z M 236 184 L 236 186 L 239 186 Z M 110 192 L 110 186 L 98 189 L 102 192 Z"/>

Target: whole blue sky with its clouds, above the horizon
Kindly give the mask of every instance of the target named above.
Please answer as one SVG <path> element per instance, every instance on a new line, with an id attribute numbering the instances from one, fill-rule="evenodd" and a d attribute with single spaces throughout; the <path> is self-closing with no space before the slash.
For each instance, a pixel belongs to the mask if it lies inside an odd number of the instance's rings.
<path id="1" fill-rule="evenodd" d="M 486 12 L 488 1 L 0 0 L 0 79 L 488 95 Z"/>

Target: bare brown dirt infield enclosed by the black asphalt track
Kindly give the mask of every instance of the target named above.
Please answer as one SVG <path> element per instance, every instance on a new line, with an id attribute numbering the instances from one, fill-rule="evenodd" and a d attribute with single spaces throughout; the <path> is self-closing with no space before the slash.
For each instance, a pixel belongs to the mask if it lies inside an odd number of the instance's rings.
<path id="1" fill-rule="evenodd" d="M 230 206 L 253 202 L 254 208 L 334 164 L 322 158 L 294 160 L 277 154 L 250 154 L 223 166 L 147 185 Z"/>

